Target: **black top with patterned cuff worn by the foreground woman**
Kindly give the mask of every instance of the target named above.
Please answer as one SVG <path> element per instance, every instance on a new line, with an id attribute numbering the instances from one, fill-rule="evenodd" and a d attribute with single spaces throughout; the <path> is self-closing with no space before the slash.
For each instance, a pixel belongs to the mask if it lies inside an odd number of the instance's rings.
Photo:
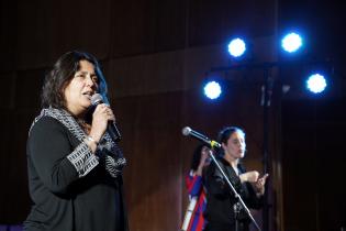
<path id="1" fill-rule="evenodd" d="M 121 150 L 104 140 L 113 150 L 98 147 L 92 154 L 74 118 L 62 110 L 53 109 L 59 116 L 55 118 L 51 112 L 35 120 L 27 140 L 33 205 L 24 230 L 126 231 L 121 169 L 112 176 L 107 163 L 121 161 Z"/>

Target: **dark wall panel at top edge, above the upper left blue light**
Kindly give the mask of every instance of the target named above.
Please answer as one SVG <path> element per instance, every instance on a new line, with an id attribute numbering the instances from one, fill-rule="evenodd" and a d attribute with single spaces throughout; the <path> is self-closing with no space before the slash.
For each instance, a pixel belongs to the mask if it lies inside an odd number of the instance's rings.
<path id="1" fill-rule="evenodd" d="M 190 0 L 189 45 L 227 43 L 233 36 L 275 33 L 277 1 Z"/>

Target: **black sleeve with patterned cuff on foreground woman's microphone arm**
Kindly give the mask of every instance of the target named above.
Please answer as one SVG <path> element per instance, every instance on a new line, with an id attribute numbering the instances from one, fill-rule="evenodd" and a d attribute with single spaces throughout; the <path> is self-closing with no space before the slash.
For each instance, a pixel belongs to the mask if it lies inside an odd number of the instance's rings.
<path id="1" fill-rule="evenodd" d="M 53 193 L 66 193 L 70 184 L 90 172 L 86 170 L 86 163 L 96 160 L 86 143 L 74 148 L 67 132 L 60 122 L 44 117 L 34 124 L 27 141 L 29 157 L 40 179 Z"/>

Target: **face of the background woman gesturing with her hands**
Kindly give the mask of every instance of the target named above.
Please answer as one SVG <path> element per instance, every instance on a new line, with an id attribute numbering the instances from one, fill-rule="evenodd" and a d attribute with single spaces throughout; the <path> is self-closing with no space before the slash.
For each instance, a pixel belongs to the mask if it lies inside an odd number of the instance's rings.
<path id="1" fill-rule="evenodd" d="M 227 143 L 222 143 L 225 155 L 228 155 L 233 160 L 243 158 L 245 155 L 245 138 L 241 132 L 233 132 L 228 138 Z"/>

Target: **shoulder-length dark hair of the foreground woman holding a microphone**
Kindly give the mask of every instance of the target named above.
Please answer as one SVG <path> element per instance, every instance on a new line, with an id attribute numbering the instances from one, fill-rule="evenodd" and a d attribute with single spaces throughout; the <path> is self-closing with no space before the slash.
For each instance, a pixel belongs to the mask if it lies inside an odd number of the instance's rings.
<path id="1" fill-rule="evenodd" d="M 52 70 L 45 76 L 41 95 L 43 108 L 53 107 L 66 109 L 64 90 L 74 78 L 75 74 L 80 69 L 80 61 L 88 61 L 93 64 L 96 75 L 99 78 L 98 92 L 103 97 L 103 101 L 109 103 L 105 79 L 96 57 L 86 52 L 72 51 L 62 55 L 54 64 Z"/>

